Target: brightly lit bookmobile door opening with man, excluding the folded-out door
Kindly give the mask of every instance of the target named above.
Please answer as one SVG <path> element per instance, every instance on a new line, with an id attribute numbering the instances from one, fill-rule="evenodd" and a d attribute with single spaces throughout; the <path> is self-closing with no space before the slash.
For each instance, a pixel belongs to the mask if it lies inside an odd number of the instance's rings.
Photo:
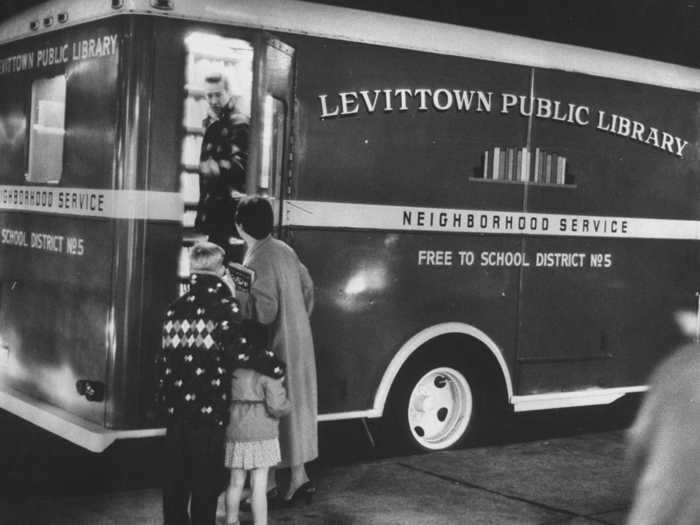
<path id="1" fill-rule="evenodd" d="M 185 37 L 185 47 L 183 248 L 207 239 L 221 245 L 231 260 L 239 260 L 243 246 L 233 214 L 247 192 L 253 46 L 243 39 L 193 31 Z M 186 252 L 181 276 L 189 273 Z"/>

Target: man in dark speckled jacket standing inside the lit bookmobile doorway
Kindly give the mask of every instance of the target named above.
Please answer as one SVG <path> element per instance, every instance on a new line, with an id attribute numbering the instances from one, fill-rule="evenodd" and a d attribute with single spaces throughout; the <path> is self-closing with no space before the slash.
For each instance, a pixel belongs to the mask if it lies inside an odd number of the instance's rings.
<path id="1" fill-rule="evenodd" d="M 245 193 L 250 124 L 235 106 L 228 79 L 213 73 L 205 79 L 209 112 L 202 123 L 204 138 L 199 164 L 199 203 L 195 229 L 235 259 L 240 244 L 233 223 L 239 198 Z"/>

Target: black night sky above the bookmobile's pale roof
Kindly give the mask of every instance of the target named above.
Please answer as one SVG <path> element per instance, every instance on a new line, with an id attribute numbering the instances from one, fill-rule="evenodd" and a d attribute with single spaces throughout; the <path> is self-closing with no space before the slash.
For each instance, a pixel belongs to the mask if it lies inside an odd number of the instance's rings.
<path id="1" fill-rule="evenodd" d="M 41 0 L 0 0 L 0 19 L 40 3 Z M 700 67 L 700 0 L 317 0 L 316 3 L 425 18 Z"/>

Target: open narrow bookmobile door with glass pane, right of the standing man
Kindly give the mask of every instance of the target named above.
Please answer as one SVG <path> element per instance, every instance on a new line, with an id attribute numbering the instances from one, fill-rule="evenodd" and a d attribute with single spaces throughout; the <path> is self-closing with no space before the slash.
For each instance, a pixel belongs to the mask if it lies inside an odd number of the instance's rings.
<path id="1" fill-rule="evenodd" d="M 246 188 L 268 197 L 279 226 L 282 200 L 288 194 L 292 158 L 294 49 L 263 36 L 254 65 L 251 142 Z"/>

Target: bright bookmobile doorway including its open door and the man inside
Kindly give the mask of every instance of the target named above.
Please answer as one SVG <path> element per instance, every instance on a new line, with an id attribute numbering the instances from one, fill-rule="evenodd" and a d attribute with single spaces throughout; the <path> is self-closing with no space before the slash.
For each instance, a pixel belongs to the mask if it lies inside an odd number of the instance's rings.
<path id="1" fill-rule="evenodd" d="M 294 79 L 293 48 L 268 35 L 244 40 L 193 31 L 185 45 L 181 278 L 189 274 L 189 247 L 201 240 L 241 260 L 245 247 L 233 214 L 242 195 L 268 197 L 280 224 Z"/>

